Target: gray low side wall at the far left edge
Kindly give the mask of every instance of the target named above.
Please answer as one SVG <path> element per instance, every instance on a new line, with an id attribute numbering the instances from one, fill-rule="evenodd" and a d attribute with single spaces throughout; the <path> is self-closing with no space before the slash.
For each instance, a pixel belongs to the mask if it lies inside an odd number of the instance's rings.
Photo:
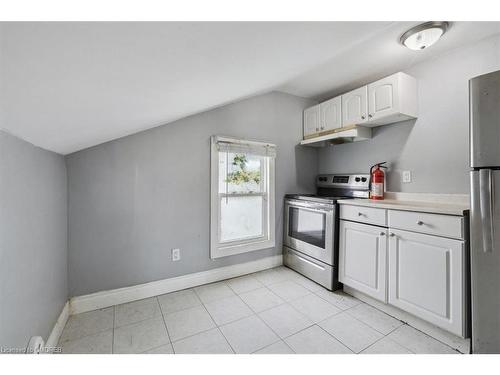
<path id="1" fill-rule="evenodd" d="M 46 340 L 68 298 L 64 158 L 0 131 L 0 346 Z"/>

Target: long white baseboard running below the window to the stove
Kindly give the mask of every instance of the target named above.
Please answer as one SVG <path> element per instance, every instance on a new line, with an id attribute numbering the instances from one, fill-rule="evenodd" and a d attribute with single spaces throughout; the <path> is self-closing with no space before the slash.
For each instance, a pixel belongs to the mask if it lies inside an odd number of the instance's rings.
<path id="1" fill-rule="evenodd" d="M 69 301 L 69 313 L 70 315 L 80 314 L 86 311 L 119 305 L 121 303 L 155 297 L 165 293 L 171 293 L 207 283 L 230 279 L 232 277 L 243 276 L 248 273 L 262 271 L 268 268 L 280 266 L 282 264 L 283 256 L 280 254 L 251 262 L 215 268 L 203 272 L 196 272 L 171 279 L 158 280 L 126 288 L 105 290 L 102 292 L 77 296 L 71 298 Z"/>

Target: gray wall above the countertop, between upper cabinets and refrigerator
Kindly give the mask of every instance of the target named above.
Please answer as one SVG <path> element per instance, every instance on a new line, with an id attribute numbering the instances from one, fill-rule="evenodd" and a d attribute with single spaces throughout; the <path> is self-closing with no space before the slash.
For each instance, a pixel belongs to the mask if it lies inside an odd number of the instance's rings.
<path id="1" fill-rule="evenodd" d="M 369 141 L 322 149 L 320 173 L 367 173 L 388 161 L 389 191 L 468 193 L 468 80 L 498 69 L 495 36 L 403 70 L 418 79 L 418 119 L 376 128 Z M 401 183 L 403 170 L 412 171 L 412 183 Z"/>

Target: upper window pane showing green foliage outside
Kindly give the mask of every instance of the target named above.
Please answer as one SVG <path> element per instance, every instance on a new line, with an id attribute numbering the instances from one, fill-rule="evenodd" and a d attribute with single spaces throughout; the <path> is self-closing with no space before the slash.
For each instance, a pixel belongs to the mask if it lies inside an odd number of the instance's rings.
<path id="1" fill-rule="evenodd" d="M 219 193 L 264 191 L 265 157 L 219 152 Z"/>

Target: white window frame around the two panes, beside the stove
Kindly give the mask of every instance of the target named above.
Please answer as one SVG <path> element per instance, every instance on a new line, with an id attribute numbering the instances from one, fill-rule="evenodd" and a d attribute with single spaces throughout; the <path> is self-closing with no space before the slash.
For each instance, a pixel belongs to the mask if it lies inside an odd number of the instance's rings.
<path id="1" fill-rule="evenodd" d="M 265 173 L 264 181 L 267 184 L 265 193 L 228 194 L 227 196 L 263 196 L 267 205 L 263 205 L 262 225 L 264 226 L 261 237 L 230 242 L 220 241 L 221 231 L 221 199 L 226 196 L 219 192 L 219 148 L 218 142 L 233 143 L 249 147 L 273 147 L 265 142 L 247 141 L 229 137 L 212 136 L 210 150 L 210 258 L 216 259 L 230 255 L 242 254 L 251 251 L 269 249 L 276 245 L 275 226 L 275 157 L 267 157 L 267 162 L 262 168 Z M 267 215 L 265 214 L 267 211 Z"/>

